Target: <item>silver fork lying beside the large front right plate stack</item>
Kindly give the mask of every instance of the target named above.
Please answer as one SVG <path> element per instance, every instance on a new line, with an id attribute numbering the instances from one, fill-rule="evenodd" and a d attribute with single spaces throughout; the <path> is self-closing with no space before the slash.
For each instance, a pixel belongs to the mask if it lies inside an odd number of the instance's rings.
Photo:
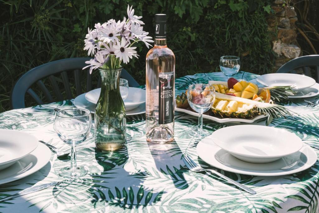
<path id="1" fill-rule="evenodd" d="M 194 171 L 194 172 L 201 172 L 201 171 L 209 171 L 211 172 L 212 174 L 215 174 L 215 175 L 218 175 L 219 177 L 223 178 L 224 180 L 227 180 L 228 182 L 234 184 L 235 186 L 238 186 L 239 188 L 243 189 L 244 191 L 250 193 L 250 194 L 256 194 L 256 192 L 236 181 L 234 181 L 233 179 L 230 179 L 228 177 L 226 177 L 225 175 L 215 171 L 215 170 L 212 170 L 212 169 L 204 169 L 203 167 L 197 165 L 189 156 L 184 156 L 183 157 L 183 161 L 185 163 L 185 165 L 187 166 L 187 168 L 189 168 L 190 171 Z"/>

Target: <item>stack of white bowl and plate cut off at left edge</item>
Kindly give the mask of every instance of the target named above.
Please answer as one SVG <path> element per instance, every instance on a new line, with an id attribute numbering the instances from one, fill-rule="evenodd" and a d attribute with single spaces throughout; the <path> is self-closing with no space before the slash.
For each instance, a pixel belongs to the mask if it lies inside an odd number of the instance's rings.
<path id="1" fill-rule="evenodd" d="M 24 178 L 49 162 L 50 149 L 33 135 L 4 129 L 0 135 L 0 184 Z"/>

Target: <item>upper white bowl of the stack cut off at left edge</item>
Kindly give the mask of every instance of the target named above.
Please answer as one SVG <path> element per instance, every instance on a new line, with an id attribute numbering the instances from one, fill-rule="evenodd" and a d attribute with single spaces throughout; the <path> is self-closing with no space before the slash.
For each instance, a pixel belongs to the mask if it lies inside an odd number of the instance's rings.
<path id="1" fill-rule="evenodd" d="M 28 155 L 38 146 L 38 139 L 26 132 L 0 129 L 0 170 Z"/>

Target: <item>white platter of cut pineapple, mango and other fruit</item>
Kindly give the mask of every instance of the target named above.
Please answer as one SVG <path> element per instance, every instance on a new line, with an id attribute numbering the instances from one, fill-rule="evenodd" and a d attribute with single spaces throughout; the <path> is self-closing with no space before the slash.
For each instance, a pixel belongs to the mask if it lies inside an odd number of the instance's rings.
<path id="1" fill-rule="evenodd" d="M 210 80 L 209 84 L 215 88 L 215 100 L 211 110 L 204 113 L 203 118 L 219 123 L 252 123 L 267 118 L 266 124 L 269 125 L 273 118 L 292 116 L 290 110 L 276 104 L 295 93 L 291 87 L 258 88 L 254 83 L 234 78 L 230 78 L 227 82 Z M 189 107 L 186 94 L 187 91 L 177 95 L 175 110 L 198 115 Z"/>

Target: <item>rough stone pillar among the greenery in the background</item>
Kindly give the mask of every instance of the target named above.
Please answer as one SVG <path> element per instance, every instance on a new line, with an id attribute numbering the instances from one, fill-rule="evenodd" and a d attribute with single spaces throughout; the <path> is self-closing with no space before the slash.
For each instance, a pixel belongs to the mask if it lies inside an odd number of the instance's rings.
<path id="1" fill-rule="evenodd" d="M 274 0 L 271 7 L 274 10 L 268 18 L 269 30 L 273 32 L 272 49 L 276 54 L 276 64 L 273 72 L 287 61 L 299 57 L 300 47 L 297 43 L 295 22 L 297 14 L 288 0 Z"/>

